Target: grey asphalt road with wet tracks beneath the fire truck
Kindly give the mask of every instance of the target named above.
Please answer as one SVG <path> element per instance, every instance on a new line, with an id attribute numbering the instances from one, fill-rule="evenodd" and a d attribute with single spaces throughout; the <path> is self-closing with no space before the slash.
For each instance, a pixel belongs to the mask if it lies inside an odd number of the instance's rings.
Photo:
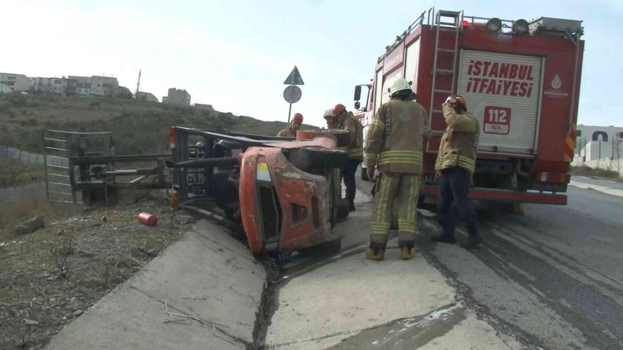
<path id="1" fill-rule="evenodd" d="M 526 204 L 523 215 L 481 204 L 475 251 L 430 242 L 439 225 L 422 211 L 418 245 L 465 305 L 526 347 L 622 349 L 623 197 L 576 187 L 568 196 L 568 206 Z"/>

